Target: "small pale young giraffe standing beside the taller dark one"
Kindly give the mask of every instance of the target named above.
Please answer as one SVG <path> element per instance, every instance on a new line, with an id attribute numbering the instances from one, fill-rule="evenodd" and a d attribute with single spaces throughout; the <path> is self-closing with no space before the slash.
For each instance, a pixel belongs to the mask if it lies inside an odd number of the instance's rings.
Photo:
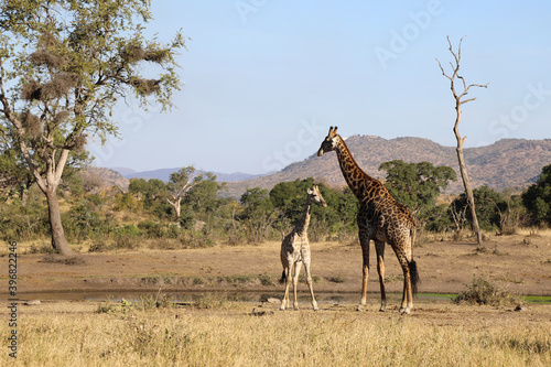
<path id="1" fill-rule="evenodd" d="M 294 310 L 299 310 L 299 302 L 296 301 L 296 285 L 299 283 L 301 263 L 304 263 L 304 270 L 306 271 L 306 283 L 309 284 L 310 294 L 312 295 L 312 307 L 314 311 L 317 311 L 317 302 L 315 301 L 314 289 L 312 288 L 310 244 L 307 237 L 312 202 L 322 204 L 324 207 L 327 206 L 317 185 L 314 185 L 312 190 L 307 190 L 304 214 L 302 215 L 301 220 L 294 226 L 293 230 L 287 235 L 281 242 L 281 265 L 283 266 L 281 282 L 285 282 L 285 295 L 281 301 L 280 307 L 282 311 L 290 306 L 289 285 L 291 284 L 291 277 L 294 293 L 293 307 Z"/>

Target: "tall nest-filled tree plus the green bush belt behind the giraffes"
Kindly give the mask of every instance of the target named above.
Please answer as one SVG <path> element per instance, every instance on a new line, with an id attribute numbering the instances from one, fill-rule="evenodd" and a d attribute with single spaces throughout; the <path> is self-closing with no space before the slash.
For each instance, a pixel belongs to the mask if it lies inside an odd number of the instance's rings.
<path id="1" fill-rule="evenodd" d="M 88 251 L 138 244 L 187 248 L 280 239 L 294 224 L 312 179 L 282 182 L 270 191 L 249 188 L 231 199 L 219 197 L 224 184 L 209 174 L 196 175 L 193 168 L 183 168 L 170 182 L 133 180 L 128 192 L 99 190 L 97 180 L 78 174 L 90 161 L 87 140 L 117 136 L 111 114 L 117 102 L 137 98 L 144 108 L 151 102 L 163 110 L 172 107 L 181 84 L 175 55 L 185 48 L 185 37 L 177 32 L 164 44 L 145 39 L 151 19 L 149 1 L 2 3 L 3 240 L 36 240 L 42 244 L 37 251 L 63 255 L 71 255 L 68 244 L 84 244 Z M 549 168 L 523 194 L 478 187 L 468 199 L 441 195 L 456 180 L 450 168 L 392 161 L 380 169 L 390 193 L 425 231 L 460 238 L 476 229 L 469 228 L 473 212 L 466 209 L 473 201 L 485 230 L 509 234 L 551 220 Z M 321 190 L 328 207 L 313 208 L 311 240 L 355 237 L 358 203 L 352 193 L 323 184 Z"/>

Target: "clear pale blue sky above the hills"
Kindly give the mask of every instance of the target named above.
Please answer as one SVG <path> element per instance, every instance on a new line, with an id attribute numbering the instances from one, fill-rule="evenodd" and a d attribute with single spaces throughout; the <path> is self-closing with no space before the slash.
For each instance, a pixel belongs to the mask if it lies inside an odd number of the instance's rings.
<path id="1" fill-rule="evenodd" d="M 264 173 L 303 160 L 329 126 L 353 134 L 421 137 L 455 145 L 450 71 L 463 105 L 465 147 L 551 138 L 548 1 L 154 0 L 148 32 L 191 37 L 179 56 L 174 108 L 120 104 L 121 139 L 93 144 L 96 165 L 137 171 L 194 165 Z"/>

